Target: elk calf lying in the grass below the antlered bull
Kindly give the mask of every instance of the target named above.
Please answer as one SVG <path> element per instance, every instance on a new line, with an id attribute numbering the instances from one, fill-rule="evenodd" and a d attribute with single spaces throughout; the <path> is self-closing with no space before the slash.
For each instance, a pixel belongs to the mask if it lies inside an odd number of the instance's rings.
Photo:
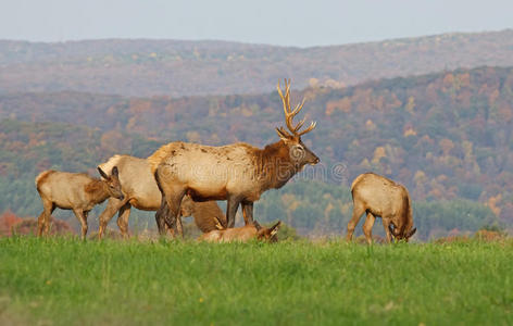
<path id="1" fill-rule="evenodd" d="M 276 241 L 276 233 L 278 231 L 281 221 L 278 221 L 272 227 L 262 227 L 256 221 L 247 224 L 242 227 L 224 228 L 217 224 L 217 230 L 212 230 L 200 237 L 200 240 L 209 242 L 247 242 L 251 239 L 262 241 Z"/>

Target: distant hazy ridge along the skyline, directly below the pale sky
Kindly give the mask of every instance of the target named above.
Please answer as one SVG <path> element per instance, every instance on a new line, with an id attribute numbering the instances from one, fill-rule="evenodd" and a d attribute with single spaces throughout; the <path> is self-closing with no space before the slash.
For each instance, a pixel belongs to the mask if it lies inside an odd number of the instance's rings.
<path id="1" fill-rule="evenodd" d="M 225 41 L 0 41 L 0 92 L 74 90 L 128 97 L 261 93 L 481 65 L 513 65 L 513 30 L 290 48 Z"/>

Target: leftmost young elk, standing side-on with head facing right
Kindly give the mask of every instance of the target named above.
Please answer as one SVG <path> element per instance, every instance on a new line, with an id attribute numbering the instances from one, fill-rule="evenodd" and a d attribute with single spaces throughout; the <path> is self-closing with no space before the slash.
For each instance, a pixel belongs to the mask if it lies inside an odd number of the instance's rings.
<path id="1" fill-rule="evenodd" d="M 109 197 L 123 199 L 121 184 L 117 177 L 117 167 L 112 168 L 109 177 L 101 170 L 98 172 L 103 180 L 90 177 L 84 173 L 67 173 L 45 171 L 36 177 L 36 188 L 41 197 L 43 211 L 38 218 L 37 235 L 48 235 L 50 216 L 55 208 L 73 210 L 82 224 L 82 238 L 87 234 L 87 215 L 96 204 Z"/>

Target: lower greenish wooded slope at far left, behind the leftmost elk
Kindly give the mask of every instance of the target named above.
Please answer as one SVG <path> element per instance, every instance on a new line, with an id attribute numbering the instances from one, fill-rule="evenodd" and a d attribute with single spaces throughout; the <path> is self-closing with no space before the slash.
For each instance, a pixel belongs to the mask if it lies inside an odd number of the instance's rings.
<path id="1" fill-rule="evenodd" d="M 96 166 L 114 153 L 148 155 L 159 143 L 138 135 L 101 133 L 62 123 L 0 122 L 0 212 L 21 216 L 40 213 L 34 186 L 45 170 L 86 172 L 99 177 Z"/>

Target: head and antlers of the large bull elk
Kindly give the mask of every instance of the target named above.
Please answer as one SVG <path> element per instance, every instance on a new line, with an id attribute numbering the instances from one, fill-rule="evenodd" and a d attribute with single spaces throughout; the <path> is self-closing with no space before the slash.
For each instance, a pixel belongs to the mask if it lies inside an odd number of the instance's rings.
<path id="1" fill-rule="evenodd" d="M 299 129 L 303 126 L 304 118 L 296 125 L 292 124 L 293 117 L 303 108 L 304 99 L 292 110 L 290 108 L 290 80 L 285 79 L 285 95 L 281 92 L 279 83 L 277 89 L 278 95 L 284 103 L 285 123 L 288 130 L 286 130 L 284 127 L 279 127 L 276 128 L 276 131 L 278 133 L 281 141 L 284 141 L 288 148 L 290 161 L 298 170 L 301 170 L 305 164 L 317 164 L 320 161 L 318 158 L 301 141 L 301 136 L 313 130 L 316 123 L 312 122 L 310 126 L 302 131 Z"/>

